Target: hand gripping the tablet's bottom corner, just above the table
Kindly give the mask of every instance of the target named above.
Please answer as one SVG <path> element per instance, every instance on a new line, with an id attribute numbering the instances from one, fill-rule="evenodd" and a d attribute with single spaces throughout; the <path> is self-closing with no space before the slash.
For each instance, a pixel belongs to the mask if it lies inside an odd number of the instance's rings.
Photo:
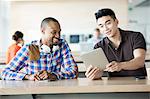
<path id="1" fill-rule="evenodd" d="M 89 79 L 96 80 L 100 79 L 103 74 L 103 70 L 98 67 L 90 65 L 85 73 L 85 76 Z"/>

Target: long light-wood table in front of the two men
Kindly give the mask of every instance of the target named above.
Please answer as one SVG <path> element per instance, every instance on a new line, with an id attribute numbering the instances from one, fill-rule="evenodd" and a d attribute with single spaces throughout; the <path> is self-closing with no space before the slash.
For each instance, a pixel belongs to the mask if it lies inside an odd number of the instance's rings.
<path id="1" fill-rule="evenodd" d="M 40 99 L 149 99 L 149 92 L 150 80 L 128 77 L 94 81 L 87 78 L 53 82 L 0 81 L 0 95 L 38 94 Z"/>

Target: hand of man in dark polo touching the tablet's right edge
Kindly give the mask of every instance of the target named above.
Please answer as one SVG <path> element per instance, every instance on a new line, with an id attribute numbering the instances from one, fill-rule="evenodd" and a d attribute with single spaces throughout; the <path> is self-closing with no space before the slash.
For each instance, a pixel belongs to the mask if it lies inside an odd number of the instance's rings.
<path id="1" fill-rule="evenodd" d="M 114 71 L 121 71 L 122 70 L 122 64 L 116 61 L 112 61 L 108 65 L 106 65 L 105 71 L 108 72 L 114 72 Z"/>

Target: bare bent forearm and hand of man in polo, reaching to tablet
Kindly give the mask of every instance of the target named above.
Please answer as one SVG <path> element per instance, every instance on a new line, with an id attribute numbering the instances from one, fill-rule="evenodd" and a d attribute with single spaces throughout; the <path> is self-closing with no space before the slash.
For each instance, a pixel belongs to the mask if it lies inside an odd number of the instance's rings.
<path id="1" fill-rule="evenodd" d="M 136 70 L 138 68 L 141 68 L 144 66 L 145 53 L 146 51 L 144 49 L 135 49 L 133 52 L 133 59 L 125 62 L 112 61 L 106 66 L 105 71 L 114 72 L 121 70 Z"/>

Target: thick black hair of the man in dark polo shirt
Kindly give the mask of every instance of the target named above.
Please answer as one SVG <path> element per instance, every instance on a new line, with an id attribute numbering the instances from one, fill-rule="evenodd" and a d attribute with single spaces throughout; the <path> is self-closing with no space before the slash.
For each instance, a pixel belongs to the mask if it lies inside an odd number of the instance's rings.
<path id="1" fill-rule="evenodd" d="M 114 11 L 109 8 L 100 9 L 95 13 L 96 20 L 98 20 L 98 18 L 101 18 L 103 16 L 110 16 L 114 20 L 116 19 Z"/>

